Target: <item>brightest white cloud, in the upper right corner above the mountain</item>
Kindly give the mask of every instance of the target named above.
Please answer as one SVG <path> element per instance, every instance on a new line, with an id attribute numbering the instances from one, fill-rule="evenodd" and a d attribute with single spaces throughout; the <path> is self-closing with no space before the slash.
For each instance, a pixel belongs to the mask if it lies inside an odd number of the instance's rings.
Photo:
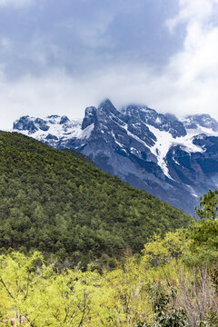
<path id="1" fill-rule="evenodd" d="M 174 91 L 171 110 L 174 102 L 175 110 L 185 114 L 204 111 L 218 118 L 217 5 L 218 0 L 180 0 L 179 14 L 167 22 L 171 30 L 186 24 L 183 50 L 171 58 L 164 72 L 165 83 Z"/>

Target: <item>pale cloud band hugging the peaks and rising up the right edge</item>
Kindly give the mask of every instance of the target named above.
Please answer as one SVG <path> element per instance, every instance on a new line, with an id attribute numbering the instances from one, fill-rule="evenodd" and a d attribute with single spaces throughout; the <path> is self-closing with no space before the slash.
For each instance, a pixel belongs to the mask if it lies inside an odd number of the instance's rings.
<path id="1" fill-rule="evenodd" d="M 180 0 L 180 12 L 167 22 L 185 24 L 183 49 L 159 74 L 146 64 L 114 64 L 74 78 L 53 70 L 8 82 L 0 71 L 0 124 L 9 128 L 23 114 L 81 117 L 87 105 L 110 97 L 114 104 L 148 104 L 178 116 L 206 113 L 218 119 L 218 0 Z M 217 14 L 216 14 L 217 13 Z M 215 16 L 216 15 L 216 16 Z M 4 114 L 4 111 L 6 114 Z"/>

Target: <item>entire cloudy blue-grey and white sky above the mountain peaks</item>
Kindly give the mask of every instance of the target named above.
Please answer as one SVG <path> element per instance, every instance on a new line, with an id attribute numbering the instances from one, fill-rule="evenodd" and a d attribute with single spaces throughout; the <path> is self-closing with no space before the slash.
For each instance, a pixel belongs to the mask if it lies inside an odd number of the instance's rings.
<path id="1" fill-rule="evenodd" d="M 104 98 L 218 119 L 218 0 L 0 0 L 0 129 Z"/>

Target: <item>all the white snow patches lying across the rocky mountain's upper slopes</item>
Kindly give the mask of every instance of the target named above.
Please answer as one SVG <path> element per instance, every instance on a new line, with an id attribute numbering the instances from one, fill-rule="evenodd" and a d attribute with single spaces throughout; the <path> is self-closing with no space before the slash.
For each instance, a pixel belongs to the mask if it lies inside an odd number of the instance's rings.
<path id="1" fill-rule="evenodd" d="M 140 107 L 140 110 L 147 113 L 154 112 L 153 109 L 147 108 L 146 106 Z M 124 121 L 121 120 L 120 117 L 117 117 L 114 115 L 114 113 L 111 113 L 110 118 L 112 119 L 113 117 L 116 118 L 116 120 L 114 120 L 114 123 L 117 124 L 120 128 L 123 128 L 126 131 L 127 135 L 133 137 L 138 143 L 143 144 L 144 147 L 149 148 L 151 150 L 151 153 L 154 154 L 154 156 L 156 157 L 157 164 L 161 167 L 164 175 L 172 180 L 173 178 L 170 176 L 168 166 L 165 161 L 165 157 L 173 145 L 181 146 L 183 150 L 189 154 L 197 153 L 197 152 L 203 153 L 205 149 L 193 144 L 193 138 L 203 137 L 201 136 L 203 134 L 208 136 L 218 136 L 218 132 L 214 132 L 213 128 L 203 127 L 200 124 L 194 124 L 194 127 L 195 126 L 196 127 L 193 129 L 186 128 L 184 125 L 184 128 L 187 133 L 185 136 L 180 136 L 180 137 L 177 136 L 176 138 L 173 138 L 173 135 L 171 133 L 160 131 L 158 128 L 154 127 L 153 125 L 144 123 L 144 125 L 146 125 L 149 128 L 150 132 L 153 133 L 156 137 L 156 142 L 154 142 L 154 145 L 149 146 L 144 142 L 143 139 L 138 137 L 136 134 L 133 134 L 130 131 L 128 131 L 128 124 L 124 123 Z M 36 122 L 35 120 L 37 120 L 37 118 L 35 117 L 26 116 L 26 118 L 28 119 L 29 122 L 32 121 L 35 124 L 37 130 L 35 132 L 30 132 L 28 130 L 24 131 L 24 130 L 14 129 L 13 132 L 30 135 L 35 137 L 35 139 L 43 142 L 45 142 L 45 140 L 50 140 L 50 143 L 54 145 L 57 144 L 58 141 L 60 140 L 66 141 L 71 138 L 82 139 L 82 140 L 87 139 L 90 137 L 92 131 L 94 130 L 94 124 L 90 124 L 84 130 L 82 130 L 82 119 L 70 120 L 66 116 L 60 116 L 55 114 L 47 116 L 45 118 L 39 118 L 38 121 Z M 45 125 L 48 127 L 47 131 L 43 131 L 41 129 L 42 124 L 40 123 L 40 121 L 45 122 Z M 183 123 L 185 119 L 180 119 L 179 121 Z M 15 123 L 18 122 L 19 119 Z M 161 123 L 160 116 L 156 117 L 155 123 L 156 124 Z M 136 128 L 138 128 L 138 125 L 139 123 L 134 123 L 134 126 Z M 104 133 L 104 131 L 102 131 L 102 133 Z M 110 133 L 114 137 L 114 142 L 124 150 L 124 144 L 121 144 L 117 141 L 113 131 L 110 131 Z M 133 147 L 130 149 L 130 151 L 133 153 L 135 151 L 137 152 L 137 150 L 134 149 Z M 175 160 L 174 162 L 177 163 Z"/>

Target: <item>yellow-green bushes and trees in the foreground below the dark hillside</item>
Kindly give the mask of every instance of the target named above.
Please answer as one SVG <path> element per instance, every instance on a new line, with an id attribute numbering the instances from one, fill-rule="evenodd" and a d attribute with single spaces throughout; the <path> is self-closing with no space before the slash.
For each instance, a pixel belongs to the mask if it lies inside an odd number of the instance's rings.
<path id="1" fill-rule="evenodd" d="M 0 255 L 0 326 L 217 327 L 218 192 L 199 221 L 154 234 L 112 270 L 57 270 L 42 253 Z"/>

